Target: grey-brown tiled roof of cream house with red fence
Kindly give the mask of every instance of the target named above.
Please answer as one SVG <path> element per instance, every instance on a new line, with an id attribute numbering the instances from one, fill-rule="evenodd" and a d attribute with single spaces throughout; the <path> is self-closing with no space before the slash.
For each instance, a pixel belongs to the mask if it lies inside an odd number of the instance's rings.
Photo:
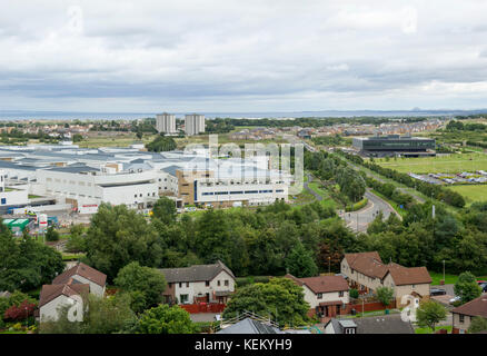
<path id="1" fill-rule="evenodd" d="M 235 278 L 232 271 L 220 260 L 213 265 L 195 265 L 191 267 L 162 268 L 159 270 L 165 275 L 168 283 L 211 280 L 222 270 Z"/>

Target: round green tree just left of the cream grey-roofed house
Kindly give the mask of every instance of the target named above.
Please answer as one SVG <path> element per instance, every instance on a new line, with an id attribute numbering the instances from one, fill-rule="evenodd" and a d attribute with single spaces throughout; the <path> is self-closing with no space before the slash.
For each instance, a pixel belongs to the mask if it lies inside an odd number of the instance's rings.
<path id="1" fill-rule="evenodd" d="M 165 276 L 155 268 L 140 266 L 133 261 L 121 268 L 115 278 L 115 285 L 122 291 L 138 291 L 138 295 L 132 295 L 138 303 L 137 310 L 142 312 L 141 299 L 143 298 L 143 309 L 156 306 L 162 301 L 162 293 L 166 289 Z"/>

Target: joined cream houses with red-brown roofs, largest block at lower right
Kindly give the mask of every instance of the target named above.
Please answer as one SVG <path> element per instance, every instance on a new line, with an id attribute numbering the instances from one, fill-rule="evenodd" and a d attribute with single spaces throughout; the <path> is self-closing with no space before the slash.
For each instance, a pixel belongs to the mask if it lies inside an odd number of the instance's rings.
<path id="1" fill-rule="evenodd" d="M 360 294 L 375 293 L 379 287 L 392 288 L 397 307 L 406 295 L 429 299 L 431 277 L 426 267 L 408 268 L 395 263 L 384 264 L 377 251 L 345 254 L 340 271 L 350 288 L 358 289 Z"/>

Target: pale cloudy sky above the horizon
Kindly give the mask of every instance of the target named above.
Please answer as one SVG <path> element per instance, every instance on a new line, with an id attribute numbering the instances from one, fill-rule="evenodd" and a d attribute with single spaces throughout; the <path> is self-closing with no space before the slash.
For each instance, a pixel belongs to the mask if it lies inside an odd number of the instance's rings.
<path id="1" fill-rule="evenodd" d="M 2 0 L 0 110 L 487 108 L 484 0 Z"/>

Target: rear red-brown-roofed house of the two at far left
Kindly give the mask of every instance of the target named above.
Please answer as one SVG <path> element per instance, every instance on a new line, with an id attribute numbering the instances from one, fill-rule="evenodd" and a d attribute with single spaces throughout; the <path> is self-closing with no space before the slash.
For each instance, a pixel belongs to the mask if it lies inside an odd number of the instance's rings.
<path id="1" fill-rule="evenodd" d="M 90 294 L 93 294 L 98 297 L 102 297 L 105 295 L 107 275 L 86 264 L 80 263 L 69 268 L 68 270 L 57 276 L 52 280 L 52 284 L 70 284 L 71 279 L 76 284 L 88 284 L 90 286 Z"/>

